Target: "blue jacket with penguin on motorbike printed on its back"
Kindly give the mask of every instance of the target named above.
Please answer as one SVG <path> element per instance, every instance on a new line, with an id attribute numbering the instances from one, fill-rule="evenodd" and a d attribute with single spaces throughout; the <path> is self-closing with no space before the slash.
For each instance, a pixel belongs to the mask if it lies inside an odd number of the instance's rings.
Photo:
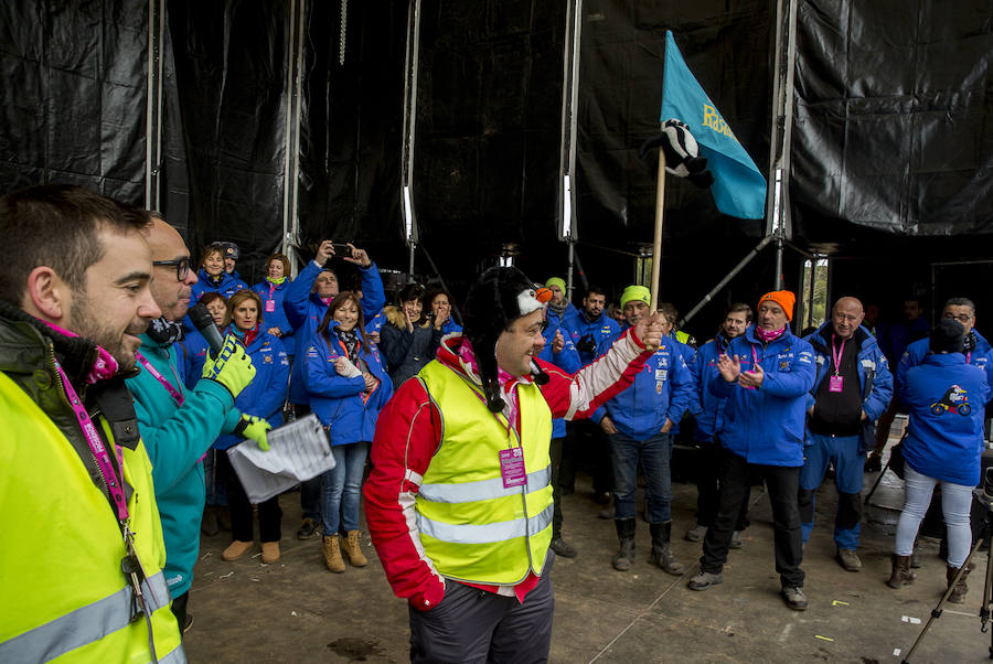
<path id="1" fill-rule="evenodd" d="M 907 371 L 900 399 L 910 410 L 904 459 L 922 475 L 975 486 L 983 453 L 986 374 L 961 353 L 929 354 Z"/>

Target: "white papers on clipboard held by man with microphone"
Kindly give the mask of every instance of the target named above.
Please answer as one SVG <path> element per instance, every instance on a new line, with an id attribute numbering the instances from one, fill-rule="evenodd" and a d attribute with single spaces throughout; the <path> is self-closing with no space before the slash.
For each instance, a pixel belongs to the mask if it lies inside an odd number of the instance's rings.
<path id="1" fill-rule="evenodd" d="M 258 504 L 334 468 L 328 435 L 312 413 L 269 431 L 269 450 L 248 441 L 227 450 L 248 501 Z"/>

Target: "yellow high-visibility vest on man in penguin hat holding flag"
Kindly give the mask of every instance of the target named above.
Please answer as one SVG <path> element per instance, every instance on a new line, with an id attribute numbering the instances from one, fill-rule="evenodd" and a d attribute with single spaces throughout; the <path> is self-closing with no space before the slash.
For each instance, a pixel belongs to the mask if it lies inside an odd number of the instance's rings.
<path id="1" fill-rule="evenodd" d="M 517 386 L 521 436 L 482 388 L 438 361 L 417 374 L 441 411 L 441 445 L 415 507 L 435 569 L 459 581 L 515 585 L 542 574 L 552 542 L 552 411 L 533 383 Z M 500 451 L 521 448 L 526 482 L 504 488 Z"/>

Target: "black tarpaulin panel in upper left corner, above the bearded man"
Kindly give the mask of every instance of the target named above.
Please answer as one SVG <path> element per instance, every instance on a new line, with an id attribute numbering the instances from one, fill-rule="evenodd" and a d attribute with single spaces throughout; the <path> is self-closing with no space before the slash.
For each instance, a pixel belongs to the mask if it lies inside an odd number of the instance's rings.
<path id="1" fill-rule="evenodd" d="M 0 190 L 143 199 L 147 31 L 141 2 L 0 2 Z"/>

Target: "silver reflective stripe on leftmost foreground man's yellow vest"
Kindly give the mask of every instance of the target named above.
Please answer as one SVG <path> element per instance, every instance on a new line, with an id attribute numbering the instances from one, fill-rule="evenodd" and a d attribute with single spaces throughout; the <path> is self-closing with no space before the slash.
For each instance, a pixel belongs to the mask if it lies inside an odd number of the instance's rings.
<path id="1" fill-rule="evenodd" d="M 166 576 L 161 571 L 143 580 L 141 591 L 152 613 L 168 607 L 172 601 L 169 587 L 166 585 Z M 81 607 L 72 613 L 0 643 L 0 661 L 47 662 L 60 657 L 128 626 L 136 617 L 135 607 L 135 590 L 130 586 L 125 586 L 110 597 Z M 143 617 L 138 619 L 145 620 Z M 181 647 L 178 650 L 182 651 Z M 180 655 L 185 660 L 182 652 Z"/>

